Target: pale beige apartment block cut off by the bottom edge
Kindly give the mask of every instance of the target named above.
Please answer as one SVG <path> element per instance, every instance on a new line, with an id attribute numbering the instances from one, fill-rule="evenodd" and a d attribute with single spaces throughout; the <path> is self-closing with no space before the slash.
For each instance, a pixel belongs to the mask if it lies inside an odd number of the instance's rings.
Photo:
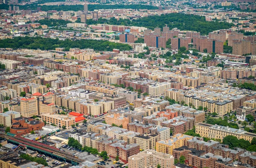
<path id="1" fill-rule="evenodd" d="M 146 150 L 128 157 L 129 168 L 157 168 L 158 164 L 161 168 L 173 168 L 174 157 L 152 150 Z"/>

